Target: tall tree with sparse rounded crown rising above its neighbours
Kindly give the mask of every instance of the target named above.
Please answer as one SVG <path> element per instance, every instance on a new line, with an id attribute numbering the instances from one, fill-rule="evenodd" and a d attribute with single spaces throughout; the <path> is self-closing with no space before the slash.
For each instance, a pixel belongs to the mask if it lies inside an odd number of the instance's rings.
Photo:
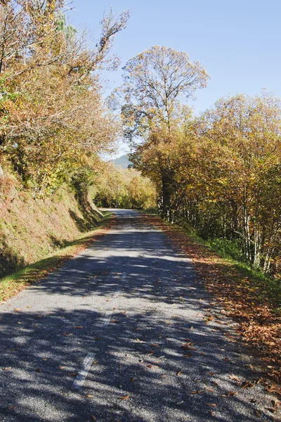
<path id="1" fill-rule="evenodd" d="M 141 136 L 143 145 L 136 146 L 132 155 L 134 165 L 143 169 L 142 154 L 152 144 L 169 143 L 178 110 L 196 89 L 206 87 L 209 76 L 200 63 L 191 63 L 188 54 L 165 46 L 152 46 L 131 58 L 124 66 L 124 119 L 125 136 L 132 141 Z M 186 112 L 186 109 L 185 109 Z M 190 110 L 188 110 L 188 115 Z M 161 165 L 160 165 L 161 162 Z M 170 182 L 172 175 L 164 160 L 159 159 L 162 179 L 162 215 L 167 217 L 171 207 Z"/>

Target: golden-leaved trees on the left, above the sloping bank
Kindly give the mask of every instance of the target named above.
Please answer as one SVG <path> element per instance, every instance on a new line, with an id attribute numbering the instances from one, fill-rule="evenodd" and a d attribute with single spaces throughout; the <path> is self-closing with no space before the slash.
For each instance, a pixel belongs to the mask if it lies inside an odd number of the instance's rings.
<path id="1" fill-rule="evenodd" d="M 64 0 L 7 0 L 0 5 L 0 169 L 44 198 L 74 178 L 85 184 L 119 137 L 105 107 L 100 71 L 129 13 L 111 12 L 89 49 L 86 32 L 65 23 Z"/>

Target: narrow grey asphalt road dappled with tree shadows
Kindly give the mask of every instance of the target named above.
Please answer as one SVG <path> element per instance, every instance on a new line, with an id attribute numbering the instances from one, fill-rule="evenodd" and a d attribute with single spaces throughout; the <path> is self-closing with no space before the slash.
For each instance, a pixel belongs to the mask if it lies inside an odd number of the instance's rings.
<path id="1" fill-rule="evenodd" d="M 0 421 L 280 421 L 192 262 L 138 212 L 116 215 L 0 306 Z"/>

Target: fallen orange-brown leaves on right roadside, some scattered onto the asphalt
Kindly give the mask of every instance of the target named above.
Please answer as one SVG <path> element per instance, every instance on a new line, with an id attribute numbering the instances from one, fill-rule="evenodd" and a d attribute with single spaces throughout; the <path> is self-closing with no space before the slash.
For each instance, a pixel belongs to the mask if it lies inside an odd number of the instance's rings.
<path id="1" fill-rule="evenodd" d="M 178 229 L 174 229 L 171 225 L 165 223 L 157 217 L 143 216 L 145 222 L 157 226 L 162 229 L 166 235 L 174 241 L 185 252 L 188 257 L 192 258 L 193 266 L 197 273 L 197 277 L 203 279 L 208 290 L 213 293 L 216 300 L 221 302 L 221 321 L 216 316 L 213 320 L 214 328 L 223 328 L 226 325 L 226 318 L 234 316 L 239 321 L 237 331 L 242 335 L 247 345 L 264 359 L 264 370 L 268 376 L 275 381 L 275 384 L 281 382 L 281 323 L 280 314 L 274 312 L 273 304 L 268 299 L 268 292 L 262 286 L 257 290 L 254 281 L 241 275 L 233 265 L 226 263 L 211 250 L 207 250 L 200 243 L 194 241 L 193 238 L 183 234 Z M 259 293 L 259 295 L 258 295 Z M 255 300 L 253 300 L 253 295 Z M 252 305 L 251 302 L 254 302 Z M 216 305 L 211 302 L 210 305 Z M 209 319 L 209 314 L 205 316 Z M 235 342 L 237 336 L 226 333 L 226 338 Z M 181 347 L 184 350 L 192 350 L 190 339 L 186 338 Z M 185 354 L 185 357 L 191 357 L 191 353 Z M 229 357 L 223 357 L 225 362 L 230 362 Z M 240 382 L 233 379 L 233 381 Z M 272 383 L 268 383 L 263 379 L 266 388 L 270 388 Z M 246 387 L 245 387 L 246 388 Z M 281 396 L 281 390 L 273 388 L 273 392 Z"/>

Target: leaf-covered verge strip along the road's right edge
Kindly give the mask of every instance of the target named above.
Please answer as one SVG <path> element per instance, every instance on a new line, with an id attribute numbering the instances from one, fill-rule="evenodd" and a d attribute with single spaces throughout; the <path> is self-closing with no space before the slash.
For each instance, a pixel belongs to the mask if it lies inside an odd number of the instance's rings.
<path id="1" fill-rule="evenodd" d="M 216 243 L 155 215 L 143 214 L 192 259 L 198 279 L 221 302 L 224 312 L 238 322 L 238 332 L 263 362 L 263 382 L 281 396 L 281 312 L 280 283 L 263 276 L 246 263 L 234 260 Z"/>

